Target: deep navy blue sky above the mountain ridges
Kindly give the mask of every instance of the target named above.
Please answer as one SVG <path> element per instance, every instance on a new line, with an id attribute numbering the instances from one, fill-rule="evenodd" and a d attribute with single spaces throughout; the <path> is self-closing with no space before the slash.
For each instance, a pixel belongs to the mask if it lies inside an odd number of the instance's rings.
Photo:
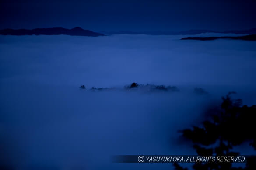
<path id="1" fill-rule="evenodd" d="M 255 0 L 1 0 L 0 29 L 214 31 L 256 27 Z"/>

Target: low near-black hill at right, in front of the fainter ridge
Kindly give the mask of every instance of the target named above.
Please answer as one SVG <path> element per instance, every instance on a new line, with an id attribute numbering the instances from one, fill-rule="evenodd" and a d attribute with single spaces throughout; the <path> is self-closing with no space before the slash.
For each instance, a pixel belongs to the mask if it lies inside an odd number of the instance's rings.
<path id="1" fill-rule="evenodd" d="M 186 37 L 186 38 L 182 38 L 181 40 L 207 41 L 207 40 L 216 40 L 216 39 L 232 39 L 232 40 L 256 41 L 256 34 L 239 36 L 239 37 Z"/>

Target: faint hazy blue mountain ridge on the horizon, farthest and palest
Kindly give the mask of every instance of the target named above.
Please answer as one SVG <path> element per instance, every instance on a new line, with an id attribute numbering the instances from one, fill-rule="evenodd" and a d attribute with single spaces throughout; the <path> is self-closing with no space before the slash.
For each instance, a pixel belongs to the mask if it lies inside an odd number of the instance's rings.
<path id="1" fill-rule="evenodd" d="M 113 34 L 146 34 L 146 35 L 195 35 L 202 33 L 223 33 L 223 34 L 256 34 L 256 28 L 248 30 L 211 31 L 211 30 L 188 30 L 188 31 L 102 31 L 106 35 Z"/>

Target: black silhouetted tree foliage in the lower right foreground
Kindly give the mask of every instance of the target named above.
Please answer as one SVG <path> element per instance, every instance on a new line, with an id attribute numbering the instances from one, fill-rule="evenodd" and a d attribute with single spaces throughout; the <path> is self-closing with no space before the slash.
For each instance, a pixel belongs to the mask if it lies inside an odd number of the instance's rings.
<path id="1" fill-rule="evenodd" d="M 244 142 L 256 150 L 256 105 L 242 106 L 242 100 L 232 100 L 229 92 L 222 97 L 220 110 L 202 126 L 182 130 L 182 136 L 193 142 L 198 156 L 238 156 L 232 152 L 234 146 Z M 175 170 L 187 170 L 174 163 Z M 232 167 L 232 162 L 196 162 L 194 170 L 256 170 L 256 157 L 249 157 L 245 168 Z"/>

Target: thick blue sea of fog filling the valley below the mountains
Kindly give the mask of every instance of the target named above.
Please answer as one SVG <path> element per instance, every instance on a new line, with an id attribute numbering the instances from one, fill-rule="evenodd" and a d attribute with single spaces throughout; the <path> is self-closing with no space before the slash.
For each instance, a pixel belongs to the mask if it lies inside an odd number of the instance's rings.
<path id="1" fill-rule="evenodd" d="M 200 37 L 222 35 L 232 36 Z M 204 111 L 229 91 L 256 104 L 256 42 L 182 37 L 0 36 L 0 164 L 170 169 L 112 163 L 111 156 L 195 154 L 178 130 L 202 122 Z M 127 88 L 133 82 L 144 85 Z"/>

